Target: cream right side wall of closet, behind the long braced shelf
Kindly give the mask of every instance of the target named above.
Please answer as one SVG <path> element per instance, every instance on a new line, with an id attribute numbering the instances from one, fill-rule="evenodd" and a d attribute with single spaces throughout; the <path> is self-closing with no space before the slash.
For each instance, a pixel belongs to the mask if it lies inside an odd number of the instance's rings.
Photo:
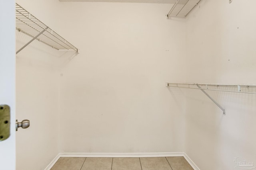
<path id="1" fill-rule="evenodd" d="M 186 19 L 186 82 L 256 84 L 255 6 L 202 0 L 195 7 Z M 256 95 L 207 92 L 226 115 L 200 90 L 186 90 L 186 154 L 201 170 L 234 170 L 243 159 L 255 164 Z"/>

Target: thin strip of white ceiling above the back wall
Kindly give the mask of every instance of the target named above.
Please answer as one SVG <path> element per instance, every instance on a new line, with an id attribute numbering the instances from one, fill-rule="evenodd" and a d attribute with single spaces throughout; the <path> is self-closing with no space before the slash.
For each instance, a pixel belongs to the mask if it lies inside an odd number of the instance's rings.
<path id="1" fill-rule="evenodd" d="M 176 0 L 60 0 L 62 2 L 138 2 L 138 3 L 158 3 L 174 4 Z"/>

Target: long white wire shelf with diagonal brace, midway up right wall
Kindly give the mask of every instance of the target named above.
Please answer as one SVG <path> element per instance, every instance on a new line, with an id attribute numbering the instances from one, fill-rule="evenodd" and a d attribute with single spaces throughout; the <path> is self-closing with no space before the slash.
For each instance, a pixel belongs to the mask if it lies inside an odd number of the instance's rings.
<path id="1" fill-rule="evenodd" d="M 256 84 L 166 83 L 166 87 L 190 88 L 201 90 L 208 98 L 210 98 L 210 100 L 212 100 L 212 102 L 214 102 L 220 109 L 222 109 L 224 115 L 226 115 L 225 109 L 222 106 L 220 106 L 220 104 L 218 104 L 208 93 L 206 93 L 205 90 L 256 94 Z"/>

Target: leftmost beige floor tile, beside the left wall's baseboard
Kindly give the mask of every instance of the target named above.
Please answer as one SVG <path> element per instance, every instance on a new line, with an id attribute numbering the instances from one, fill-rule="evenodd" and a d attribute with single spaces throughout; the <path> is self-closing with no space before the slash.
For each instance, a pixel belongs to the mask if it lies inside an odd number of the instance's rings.
<path id="1" fill-rule="evenodd" d="M 85 158 L 61 157 L 51 170 L 80 170 Z"/>

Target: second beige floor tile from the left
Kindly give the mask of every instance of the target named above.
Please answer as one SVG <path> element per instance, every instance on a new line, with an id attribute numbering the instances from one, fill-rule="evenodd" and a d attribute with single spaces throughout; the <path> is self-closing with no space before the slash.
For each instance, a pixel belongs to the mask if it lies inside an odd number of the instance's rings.
<path id="1" fill-rule="evenodd" d="M 86 158 L 81 170 L 111 170 L 112 158 Z"/>

